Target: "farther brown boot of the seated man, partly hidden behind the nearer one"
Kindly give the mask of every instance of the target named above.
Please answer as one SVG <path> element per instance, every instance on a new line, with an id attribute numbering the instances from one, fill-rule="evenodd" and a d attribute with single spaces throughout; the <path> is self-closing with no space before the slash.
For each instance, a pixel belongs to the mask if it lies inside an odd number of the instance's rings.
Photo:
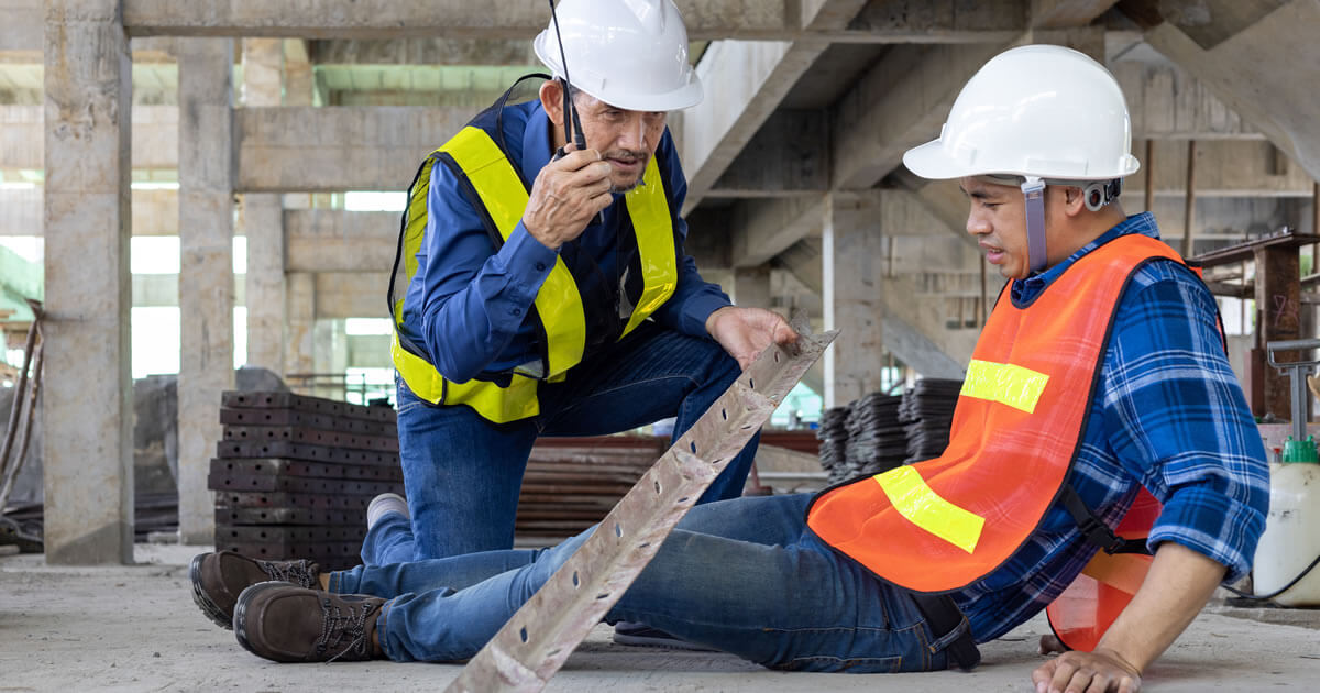
<path id="1" fill-rule="evenodd" d="M 312 561 L 257 561 L 231 550 L 202 553 L 187 568 L 193 601 L 206 618 L 226 630 L 234 628 L 234 605 L 248 586 L 279 579 L 318 589 L 319 576 L 321 566 Z"/>

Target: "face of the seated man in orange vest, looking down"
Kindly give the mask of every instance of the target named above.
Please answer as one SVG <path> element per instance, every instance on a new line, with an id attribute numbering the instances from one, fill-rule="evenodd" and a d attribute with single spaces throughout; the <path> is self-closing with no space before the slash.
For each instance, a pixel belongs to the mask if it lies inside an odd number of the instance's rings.
<path id="1" fill-rule="evenodd" d="M 1031 264 L 1022 189 L 972 177 L 961 178 L 958 187 L 972 203 L 968 232 L 977 238 L 986 260 L 1006 279 L 1026 279 Z"/>

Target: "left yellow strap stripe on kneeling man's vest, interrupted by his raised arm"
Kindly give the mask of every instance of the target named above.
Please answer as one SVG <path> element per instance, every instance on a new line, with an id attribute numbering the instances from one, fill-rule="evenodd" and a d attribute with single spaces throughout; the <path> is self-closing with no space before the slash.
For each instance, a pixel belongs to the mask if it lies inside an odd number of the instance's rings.
<path id="1" fill-rule="evenodd" d="M 471 125 L 445 143 L 441 150 L 463 169 L 500 236 L 508 240 L 527 209 L 527 189 L 504 152 L 484 131 Z M 586 314 L 577 281 L 560 257 L 554 259 L 554 267 L 536 293 L 536 313 L 545 327 L 546 378 L 581 362 L 586 348 Z"/>

